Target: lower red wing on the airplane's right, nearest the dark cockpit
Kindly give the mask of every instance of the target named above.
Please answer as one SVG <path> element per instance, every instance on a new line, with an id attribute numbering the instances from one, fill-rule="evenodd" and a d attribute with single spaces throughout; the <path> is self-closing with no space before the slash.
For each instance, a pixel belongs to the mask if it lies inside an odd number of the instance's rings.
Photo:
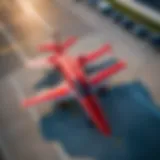
<path id="1" fill-rule="evenodd" d="M 114 75 L 116 72 L 121 71 L 122 69 L 126 68 L 126 63 L 120 61 L 109 68 L 99 72 L 97 75 L 91 78 L 92 85 L 97 85 L 100 82 L 104 81 L 105 79 L 109 78 L 110 76 Z"/>

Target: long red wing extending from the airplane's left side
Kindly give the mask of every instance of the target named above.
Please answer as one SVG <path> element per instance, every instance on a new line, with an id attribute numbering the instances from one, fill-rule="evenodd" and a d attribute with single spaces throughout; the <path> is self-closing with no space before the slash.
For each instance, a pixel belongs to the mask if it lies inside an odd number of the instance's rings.
<path id="1" fill-rule="evenodd" d="M 25 99 L 22 102 L 22 106 L 25 108 L 29 108 L 33 105 L 38 105 L 40 103 L 50 101 L 50 100 L 57 100 L 61 97 L 63 98 L 65 96 L 70 96 L 70 95 L 71 95 L 71 90 L 68 87 L 68 85 L 65 83 L 65 84 L 61 84 L 57 88 L 49 89 L 47 91 L 40 93 L 37 96 L 33 96 L 31 98 Z"/>

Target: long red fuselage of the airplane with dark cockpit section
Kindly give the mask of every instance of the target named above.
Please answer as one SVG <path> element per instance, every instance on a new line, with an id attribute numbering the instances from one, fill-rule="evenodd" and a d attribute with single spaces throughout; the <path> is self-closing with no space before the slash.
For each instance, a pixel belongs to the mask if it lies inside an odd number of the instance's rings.
<path id="1" fill-rule="evenodd" d="M 75 92 L 75 96 L 96 127 L 105 135 L 109 135 L 111 132 L 109 124 L 105 120 L 97 98 L 93 94 L 89 81 L 81 69 L 79 62 L 70 57 L 60 56 L 57 58 L 56 67 L 63 74 L 65 80 L 68 82 L 69 87 L 73 92 Z"/>

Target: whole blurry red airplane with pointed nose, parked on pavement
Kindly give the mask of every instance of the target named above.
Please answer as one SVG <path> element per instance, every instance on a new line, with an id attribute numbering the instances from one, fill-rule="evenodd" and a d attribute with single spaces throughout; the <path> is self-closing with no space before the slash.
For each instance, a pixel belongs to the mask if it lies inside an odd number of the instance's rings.
<path id="1" fill-rule="evenodd" d="M 111 53 L 108 52 L 111 50 L 111 47 L 106 44 L 87 56 L 81 56 L 75 59 L 66 56 L 67 52 L 65 52 L 75 41 L 76 39 L 71 37 L 61 45 L 52 43 L 40 46 L 40 51 L 52 51 L 55 54 L 39 60 L 37 63 L 33 62 L 33 65 L 36 66 L 38 64 L 41 66 L 42 64 L 49 64 L 50 66 L 57 68 L 63 74 L 66 82 L 63 82 L 57 88 L 51 88 L 40 95 L 24 100 L 23 106 L 30 107 L 45 101 L 66 97 L 68 95 L 75 96 L 95 126 L 104 135 L 110 135 L 111 129 L 109 123 L 103 115 L 103 111 L 97 97 L 93 93 L 92 87 L 97 86 L 100 82 L 104 81 L 104 79 L 124 69 L 126 64 L 121 61 L 117 62 L 97 75 L 88 78 L 83 71 L 83 67 L 88 64 L 88 62 L 96 60 L 96 58 L 102 56 L 104 53 Z"/>

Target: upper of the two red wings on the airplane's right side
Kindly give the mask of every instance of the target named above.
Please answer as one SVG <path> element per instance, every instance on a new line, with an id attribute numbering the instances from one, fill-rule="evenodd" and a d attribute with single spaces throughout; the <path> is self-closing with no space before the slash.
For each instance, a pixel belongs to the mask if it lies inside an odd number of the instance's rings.
<path id="1" fill-rule="evenodd" d="M 111 51 L 111 46 L 109 44 L 105 44 L 101 48 L 99 48 L 97 51 L 91 52 L 87 56 L 79 57 L 80 64 L 82 66 L 86 65 L 87 63 L 92 62 L 97 58 L 99 58 L 100 56 L 104 55 L 106 52 L 107 54 L 111 54 L 110 51 Z"/>

